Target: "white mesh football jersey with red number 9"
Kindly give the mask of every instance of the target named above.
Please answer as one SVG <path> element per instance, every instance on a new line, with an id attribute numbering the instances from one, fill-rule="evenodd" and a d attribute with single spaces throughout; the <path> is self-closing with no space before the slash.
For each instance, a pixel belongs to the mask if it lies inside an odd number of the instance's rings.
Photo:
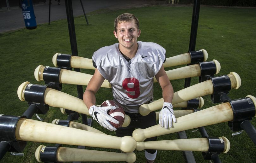
<path id="1" fill-rule="evenodd" d="M 153 100 L 153 78 L 165 61 L 162 46 L 137 43 L 137 53 L 129 62 L 120 53 L 118 43 L 97 50 L 92 57 L 103 78 L 111 84 L 114 100 L 129 113 L 138 113 L 140 105 Z"/>

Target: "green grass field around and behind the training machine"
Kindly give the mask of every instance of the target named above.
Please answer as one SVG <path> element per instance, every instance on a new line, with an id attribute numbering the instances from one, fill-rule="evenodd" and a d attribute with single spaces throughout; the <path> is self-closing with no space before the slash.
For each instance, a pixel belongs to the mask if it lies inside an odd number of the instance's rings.
<path id="1" fill-rule="evenodd" d="M 97 49 L 117 43 L 113 36 L 114 19 L 125 12 L 132 13 L 140 20 L 141 36 L 139 41 L 155 42 L 166 49 L 167 57 L 186 53 L 189 46 L 192 6 L 151 6 L 135 9 L 121 10 L 99 10 L 88 13 L 90 25 L 86 25 L 83 16 L 75 18 L 76 40 L 78 55 L 91 58 Z M 217 60 L 221 64 L 221 71 L 218 75 L 226 75 L 236 72 L 241 77 L 241 87 L 238 90 L 231 90 L 231 99 L 244 98 L 247 95 L 256 96 L 256 9 L 255 8 L 217 8 L 201 6 L 198 33 L 197 49 L 205 49 L 208 52 L 208 60 Z M 67 27 L 67 20 L 51 22 L 51 25 L 41 24 L 34 30 L 20 29 L 0 34 L 0 114 L 21 116 L 27 109 L 27 102 L 21 102 L 17 96 L 17 88 L 25 81 L 33 84 L 44 84 L 34 78 L 35 68 L 42 64 L 54 67 L 52 56 L 59 52 L 71 54 L 70 40 Z M 186 65 L 182 65 L 186 66 Z M 182 67 L 169 67 L 166 70 Z M 82 73 L 93 74 L 92 70 L 81 69 Z M 184 80 L 171 81 L 174 91 L 184 88 Z M 198 78 L 192 78 L 191 84 L 198 83 Z M 154 99 L 162 97 L 158 84 L 154 85 Z M 83 86 L 85 89 L 86 86 Z M 77 96 L 76 85 L 63 84 L 63 92 Z M 97 104 L 111 99 L 110 89 L 101 88 L 97 93 Z M 213 105 L 209 96 L 204 96 L 204 107 Z M 180 109 L 180 108 L 178 108 Z M 40 115 L 45 122 L 51 123 L 53 119 L 66 119 L 67 115 L 62 114 L 59 108 L 50 107 L 46 115 Z M 37 119 L 33 116 L 32 119 Z M 79 119 L 81 122 L 81 119 Z M 252 120 L 256 126 L 256 120 Z M 102 128 L 95 121 L 93 127 L 109 135 L 114 135 L 107 129 Z M 231 136 L 228 123 L 205 126 L 210 137 L 227 137 L 231 143 L 228 153 L 220 154 L 222 162 L 256 162 L 256 146 L 247 136 L 246 132 L 237 136 Z M 194 129 L 193 129 L 194 130 Z M 188 138 L 200 138 L 199 131 L 187 130 Z M 68 133 L 67 133 L 68 134 Z M 178 139 L 177 133 L 159 136 L 158 140 Z M 34 156 L 36 148 L 41 145 L 52 146 L 48 143 L 27 142 L 23 157 L 5 154 L 0 162 L 37 162 Z M 65 147 L 73 147 L 67 146 Z M 74 146 L 76 148 L 76 146 Z M 119 152 L 116 149 L 93 148 L 87 149 Z M 136 151 L 136 162 L 145 162 L 144 152 Z M 193 152 L 196 162 L 208 162 L 203 159 L 201 152 Z M 186 162 L 182 151 L 158 150 L 155 160 L 158 162 Z"/>

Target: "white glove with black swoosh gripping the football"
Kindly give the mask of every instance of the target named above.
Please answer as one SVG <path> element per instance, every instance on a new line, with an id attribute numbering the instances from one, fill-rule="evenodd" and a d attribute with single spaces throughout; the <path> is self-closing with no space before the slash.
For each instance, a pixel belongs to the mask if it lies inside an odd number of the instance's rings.
<path id="1" fill-rule="evenodd" d="M 119 124 L 119 121 L 111 117 L 107 114 L 108 110 L 116 109 L 115 106 L 105 106 L 105 107 L 98 107 L 98 106 L 91 106 L 89 109 L 89 114 L 95 119 L 101 126 L 105 127 L 110 131 L 116 131 L 116 128 L 111 125 L 111 122 L 115 124 Z"/>

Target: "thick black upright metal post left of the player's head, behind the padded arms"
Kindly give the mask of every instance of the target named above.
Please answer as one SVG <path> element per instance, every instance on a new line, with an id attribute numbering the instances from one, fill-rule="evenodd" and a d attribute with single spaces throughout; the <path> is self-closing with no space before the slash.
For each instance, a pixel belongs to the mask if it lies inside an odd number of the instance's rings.
<path id="1" fill-rule="evenodd" d="M 65 0 L 65 6 L 66 6 L 66 13 L 67 13 L 68 28 L 69 28 L 71 53 L 74 56 L 78 56 L 72 0 Z M 80 72 L 80 68 L 74 68 L 74 70 L 76 72 Z M 80 99 L 83 99 L 82 85 L 76 85 L 76 89 L 77 89 L 77 97 Z M 82 115 L 82 122 L 83 124 L 88 125 L 87 116 Z"/>

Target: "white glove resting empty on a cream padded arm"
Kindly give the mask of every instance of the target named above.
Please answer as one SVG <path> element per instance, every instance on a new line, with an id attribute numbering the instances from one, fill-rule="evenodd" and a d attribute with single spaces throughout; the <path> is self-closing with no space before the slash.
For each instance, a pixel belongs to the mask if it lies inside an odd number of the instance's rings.
<path id="1" fill-rule="evenodd" d="M 176 118 L 173 112 L 173 105 L 169 102 L 164 102 L 163 108 L 159 113 L 159 124 L 161 127 L 164 126 L 165 129 L 168 129 L 168 124 L 169 127 L 172 127 L 173 121 L 176 123 Z"/>

